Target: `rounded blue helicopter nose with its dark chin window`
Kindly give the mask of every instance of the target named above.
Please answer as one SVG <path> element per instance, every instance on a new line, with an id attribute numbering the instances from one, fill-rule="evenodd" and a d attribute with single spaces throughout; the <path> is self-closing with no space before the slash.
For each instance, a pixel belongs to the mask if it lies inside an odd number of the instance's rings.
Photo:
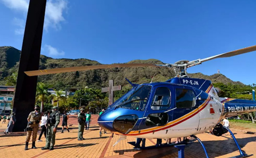
<path id="1" fill-rule="evenodd" d="M 133 129 L 137 121 L 137 115 L 117 116 L 114 113 L 111 113 L 111 115 L 105 113 L 99 116 L 98 125 L 110 132 L 127 134 Z"/>

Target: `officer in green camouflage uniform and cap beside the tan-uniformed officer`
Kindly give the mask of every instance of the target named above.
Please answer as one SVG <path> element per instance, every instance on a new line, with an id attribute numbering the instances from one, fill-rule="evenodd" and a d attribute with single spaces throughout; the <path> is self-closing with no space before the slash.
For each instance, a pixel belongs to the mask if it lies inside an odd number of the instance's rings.
<path id="1" fill-rule="evenodd" d="M 55 134 L 57 131 L 57 127 L 60 123 L 60 113 L 57 111 L 58 107 L 54 106 L 51 109 L 52 109 L 52 113 L 47 119 L 47 124 L 45 124 L 45 126 L 47 127 L 46 144 L 45 144 L 45 147 L 41 148 L 42 150 L 54 149 Z"/>

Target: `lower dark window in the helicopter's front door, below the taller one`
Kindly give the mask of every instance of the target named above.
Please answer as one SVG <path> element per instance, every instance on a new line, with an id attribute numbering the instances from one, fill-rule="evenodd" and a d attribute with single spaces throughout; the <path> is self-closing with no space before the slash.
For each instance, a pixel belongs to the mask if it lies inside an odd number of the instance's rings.
<path id="1" fill-rule="evenodd" d="M 167 113 L 149 114 L 146 119 L 147 126 L 163 126 L 168 122 Z"/>

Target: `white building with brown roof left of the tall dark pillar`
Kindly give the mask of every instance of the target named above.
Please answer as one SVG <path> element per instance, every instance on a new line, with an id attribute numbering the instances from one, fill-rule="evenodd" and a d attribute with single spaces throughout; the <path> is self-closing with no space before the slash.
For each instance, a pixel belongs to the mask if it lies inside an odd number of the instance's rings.
<path id="1" fill-rule="evenodd" d="M 14 98 L 14 91 L 14 86 L 0 86 L 0 114 L 11 112 L 11 104 Z"/>

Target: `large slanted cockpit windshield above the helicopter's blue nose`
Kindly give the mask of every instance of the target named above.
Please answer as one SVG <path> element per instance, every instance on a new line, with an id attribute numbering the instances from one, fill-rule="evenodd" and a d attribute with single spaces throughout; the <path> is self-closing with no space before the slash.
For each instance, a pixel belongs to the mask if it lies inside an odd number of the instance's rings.
<path id="1" fill-rule="evenodd" d="M 149 93 L 151 91 L 151 86 L 149 85 L 139 85 L 131 89 L 123 97 L 121 97 L 116 103 L 114 103 L 112 108 L 128 108 L 133 110 L 144 110 Z"/>

